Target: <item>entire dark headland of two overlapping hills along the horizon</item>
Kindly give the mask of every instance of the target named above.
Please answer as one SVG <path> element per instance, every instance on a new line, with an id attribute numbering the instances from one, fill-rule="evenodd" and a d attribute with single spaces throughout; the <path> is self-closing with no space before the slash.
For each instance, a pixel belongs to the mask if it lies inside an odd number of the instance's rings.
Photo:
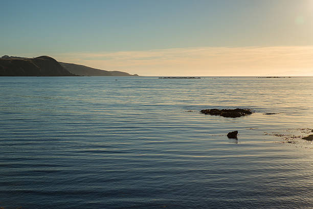
<path id="1" fill-rule="evenodd" d="M 35 58 L 2 56 L 0 76 L 138 76 L 121 71 L 106 71 L 58 62 L 49 56 Z"/>

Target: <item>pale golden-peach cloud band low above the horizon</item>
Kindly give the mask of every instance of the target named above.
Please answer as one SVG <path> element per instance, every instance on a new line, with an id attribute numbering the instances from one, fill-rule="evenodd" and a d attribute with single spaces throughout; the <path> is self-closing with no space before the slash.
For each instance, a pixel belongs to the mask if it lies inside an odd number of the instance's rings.
<path id="1" fill-rule="evenodd" d="M 140 75 L 313 75 L 313 46 L 196 47 L 52 55 L 103 70 Z"/>

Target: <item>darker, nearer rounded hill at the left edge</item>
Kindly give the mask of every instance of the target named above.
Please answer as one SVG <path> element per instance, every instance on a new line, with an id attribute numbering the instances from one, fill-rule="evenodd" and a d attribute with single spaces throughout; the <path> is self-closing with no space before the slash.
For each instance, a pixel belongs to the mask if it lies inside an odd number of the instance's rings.
<path id="1" fill-rule="evenodd" d="M 0 76 L 76 76 L 49 56 L 0 58 Z"/>

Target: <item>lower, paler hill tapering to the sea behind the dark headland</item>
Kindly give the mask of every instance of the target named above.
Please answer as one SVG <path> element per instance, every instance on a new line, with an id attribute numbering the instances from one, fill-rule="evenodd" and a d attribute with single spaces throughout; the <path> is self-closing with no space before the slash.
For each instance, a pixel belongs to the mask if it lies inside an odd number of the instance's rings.
<path id="1" fill-rule="evenodd" d="M 81 76 L 138 76 L 137 74 L 131 75 L 129 73 L 121 72 L 121 71 L 106 71 L 95 69 L 83 65 L 76 65 L 66 62 L 59 62 L 60 65 L 68 70 L 69 72 L 81 75 Z"/>

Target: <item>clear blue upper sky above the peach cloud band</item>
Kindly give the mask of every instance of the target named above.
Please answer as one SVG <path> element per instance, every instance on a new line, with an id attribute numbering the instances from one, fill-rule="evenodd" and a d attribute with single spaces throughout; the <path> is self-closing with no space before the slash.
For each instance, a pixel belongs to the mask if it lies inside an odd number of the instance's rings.
<path id="1" fill-rule="evenodd" d="M 2 1 L 0 55 L 313 45 L 312 0 Z"/>

